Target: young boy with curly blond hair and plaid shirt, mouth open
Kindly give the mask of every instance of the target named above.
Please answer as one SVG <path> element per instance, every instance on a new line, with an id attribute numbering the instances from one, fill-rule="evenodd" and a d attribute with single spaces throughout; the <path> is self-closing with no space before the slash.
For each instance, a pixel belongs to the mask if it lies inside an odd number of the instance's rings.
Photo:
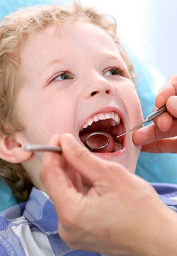
<path id="1" fill-rule="evenodd" d="M 116 23 L 77 3 L 32 7 L 3 20 L 0 38 L 1 176 L 17 199 L 29 197 L 1 214 L 1 255 L 99 255 L 73 251 L 61 240 L 39 179 L 42 153 L 24 146 L 66 132 L 84 144 L 85 134 L 103 131 L 113 147 L 94 154 L 135 172 L 140 146 L 131 133 L 116 136 L 143 117 Z M 74 183 L 81 181 L 64 158 L 62 165 Z"/>

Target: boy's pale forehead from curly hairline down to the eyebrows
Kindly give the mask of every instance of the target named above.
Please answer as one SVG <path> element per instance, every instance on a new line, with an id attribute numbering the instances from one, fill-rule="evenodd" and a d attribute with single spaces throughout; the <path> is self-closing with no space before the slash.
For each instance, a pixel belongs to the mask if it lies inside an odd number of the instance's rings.
<path id="1" fill-rule="evenodd" d="M 21 48 L 21 64 L 28 65 L 26 59 L 32 62 L 42 63 L 46 66 L 56 59 L 64 58 L 70 53 L 72 57 L 81 54 L 86 49 L 95 52 L 109 52 L 121 58 L 118 47 L 113 39 L 102 28 L 83 21 L 75 21 L 72 24 L 50 25 L 44 31 L 36 31 L 31 34 Z M 122 58 L 121 58 L 122 59 Z"/>

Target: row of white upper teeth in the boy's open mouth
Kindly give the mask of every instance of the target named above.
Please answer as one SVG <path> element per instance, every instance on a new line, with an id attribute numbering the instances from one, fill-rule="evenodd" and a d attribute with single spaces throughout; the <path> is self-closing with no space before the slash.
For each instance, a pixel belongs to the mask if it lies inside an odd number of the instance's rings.
<path id="1" fill-rule="evenodd" d="M 115 126 L 120 124 L 120 116 L 116 112 L 108 112 L 108 113 L 99 113 L 96 115 L 91 116 L 83 125 L 81 128 L 87 128 L 89 125 L 91 125 L 93 122 L 98 122 L 99 120 L 107 120 L 109 119 L 109 122 L 111 125 Z"/>

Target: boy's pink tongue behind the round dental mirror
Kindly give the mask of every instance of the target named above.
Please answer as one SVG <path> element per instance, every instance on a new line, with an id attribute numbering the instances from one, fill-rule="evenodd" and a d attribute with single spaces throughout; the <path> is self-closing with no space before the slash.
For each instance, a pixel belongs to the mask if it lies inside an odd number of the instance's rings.
<path id="1" fill-rule="evenodd" d="M 86 138 L 87 136 L 89 136 L 92 132 L 86 132 L 86 133 L 81 133 L 79 135 L 82 143 L 86 146 Z M 115 147 L 115 141 L 114 138 L 107 132 L 104 132 L 105 134 L 107 134 L 107 136 L 109 137 L 109 144 L 108 146 L 104 147 L 104 149 L 97 149 L 94 150 L 94 152 L 99 152 L 99 153 L 107 153 L 107 152 L 112 152 L 114 147 Z M 97 136 L 93 136 L 90 141 L 89 141 L 89 145 L 92 147 L 100 147 L 103 146 L 107 143 L 107 138 L 105 137 L 104 140 L 104 136 L 101 134 L 97 134 Z M 88 141 L 87 141 L 88 142 Z"/>

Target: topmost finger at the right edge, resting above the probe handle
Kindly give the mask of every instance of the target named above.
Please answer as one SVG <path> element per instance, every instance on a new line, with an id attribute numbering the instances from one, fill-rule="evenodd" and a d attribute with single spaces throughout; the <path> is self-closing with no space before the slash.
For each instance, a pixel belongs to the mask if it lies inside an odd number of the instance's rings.
<path id="1" fill-rule="evenodd" d="M 177 75 L 171 76 L 158 93 L 155 100 L 156 107 L 165 105 L 167 99 L 174 95 L 177 95 Z"/>

